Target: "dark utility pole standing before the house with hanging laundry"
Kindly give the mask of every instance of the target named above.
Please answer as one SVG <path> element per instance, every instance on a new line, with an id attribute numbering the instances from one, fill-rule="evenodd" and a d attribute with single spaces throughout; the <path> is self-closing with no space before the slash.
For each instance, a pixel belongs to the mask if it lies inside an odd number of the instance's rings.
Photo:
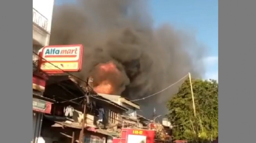
<path id="1" fill-rule="evenodd" d="M 81 127 L 81 132 L 80 132 L 80 135 L 79 135 L 79 143 L 83 142 L 82 138 L 84 136 L 84 124 L 85 124 L 85 120 L 86 120 L 86 105 L 87 105 L 88 102 L 90 102 L 89 101 L 89 96 L 88 96 L 88 94 L 89 94 L 88 79 L 87 79 L 87 82 L 86 82 L 86 88 L 85 89 L 86 89 L 85 98 L 84 98 L 84 102 L 83 102 L 84 103 L 83 104 L 83 106 L 84 106 L 84 111 L 83 111 L 84 118 L 82 120 L 82 127 Z"/>

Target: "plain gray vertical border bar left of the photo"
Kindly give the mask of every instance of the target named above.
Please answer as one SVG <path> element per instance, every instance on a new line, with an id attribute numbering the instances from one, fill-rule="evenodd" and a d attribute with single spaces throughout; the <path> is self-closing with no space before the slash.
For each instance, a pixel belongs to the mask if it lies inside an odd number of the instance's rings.
<path id="1" fill-rule="evenodd" d="M 32 140 L 32 0 L 0 2 L 0 142 Z"/>

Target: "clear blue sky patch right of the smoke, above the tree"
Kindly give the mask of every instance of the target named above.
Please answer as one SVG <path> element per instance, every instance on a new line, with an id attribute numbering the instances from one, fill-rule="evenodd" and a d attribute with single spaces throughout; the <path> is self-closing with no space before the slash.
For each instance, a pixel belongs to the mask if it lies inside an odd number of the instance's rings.
<path id="1" fill-rule="evenodd" d="M 204 78 L 218 80 L 218 0 L 151 0 L 155 26 L 193 29 L 207 47 Z"/>

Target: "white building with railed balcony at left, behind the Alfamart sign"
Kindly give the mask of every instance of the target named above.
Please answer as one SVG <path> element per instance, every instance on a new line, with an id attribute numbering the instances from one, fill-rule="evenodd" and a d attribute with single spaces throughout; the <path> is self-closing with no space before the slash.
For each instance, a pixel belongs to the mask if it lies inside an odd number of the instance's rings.
<path id="1" fill-rule="evenodd" d="M 33 51 L 38 52 L 44 46 L 49 45 L 52 12 L 54 7 L 54 0 L 33 0 Z M 33 61 L 37 59 L 37 55 L 33 54 Z M 34 74 L 33 74 L 33 91 L 43 93 L 42 90 L 34 88 Z M 42 118 L 44 115 L 44 108 L 47 102 L 34 98 L 33 93 L 33 139 L 31 143 L 40 142 L 40 130 L 42 127 Z M 49 111 L 48 111 L 49 112 Z"/>

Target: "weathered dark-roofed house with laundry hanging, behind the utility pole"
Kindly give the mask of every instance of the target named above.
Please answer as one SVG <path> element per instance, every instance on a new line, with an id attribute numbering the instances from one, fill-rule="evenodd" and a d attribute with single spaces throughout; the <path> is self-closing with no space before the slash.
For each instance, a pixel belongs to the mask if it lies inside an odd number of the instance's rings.
<path id="1" fill-rule="evenodd" d="M 86 143 L 95 140 L 105 143 L 109 136 L 118 135 L 117 124 L 122 123 L 118 117 L 128 109 L 94 91 L 84 98 L 84 88 L 74 81 L 74 78 L 65 75 L 49 77 L 44 94 L 46 98 L 54 99 L 55 103 L 51 114 L 44 115 L 41 136 L 45 143 L 79 141 L 82 127 L 82 141 Z M 87 102 L 85 114 L 84 100 Z"/>

